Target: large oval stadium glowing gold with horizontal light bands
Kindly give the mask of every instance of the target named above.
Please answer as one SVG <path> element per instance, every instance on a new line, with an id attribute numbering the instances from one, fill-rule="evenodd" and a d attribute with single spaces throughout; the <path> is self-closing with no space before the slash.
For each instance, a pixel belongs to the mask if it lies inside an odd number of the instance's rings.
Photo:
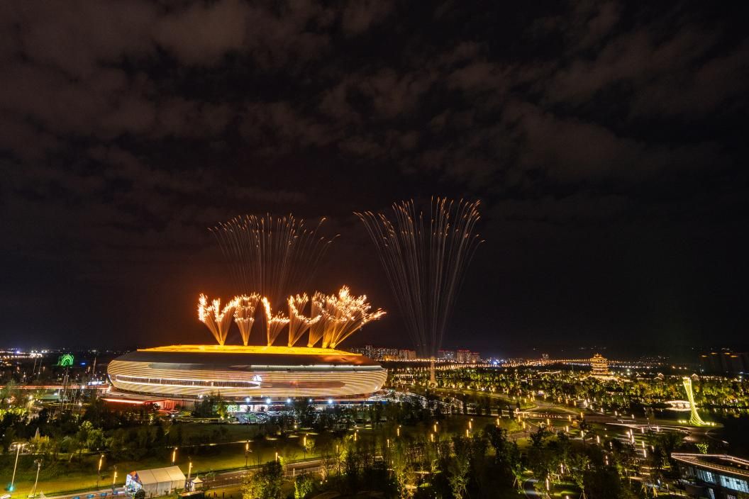
<path id="1" fill-rule="evenodd" d="M 165 408 L 209 395 L 248 405 L 304 397 L 316 402 L 367 399 L 387 371 L 342 350 L 288 346 L 176 345 L 140 349 L 107 367 L 113 401 L 162 402 Z"/>

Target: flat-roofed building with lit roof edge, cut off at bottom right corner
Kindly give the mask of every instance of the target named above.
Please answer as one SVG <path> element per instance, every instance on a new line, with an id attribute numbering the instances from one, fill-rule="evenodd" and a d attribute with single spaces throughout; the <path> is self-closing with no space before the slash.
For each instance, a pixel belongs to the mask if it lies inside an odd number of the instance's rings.
<path id="1" fill-rule="evenodd" d="M 737 499 L 749 494 L 749 461 L 726 454 L 673 453 L 690 498 Z"/>

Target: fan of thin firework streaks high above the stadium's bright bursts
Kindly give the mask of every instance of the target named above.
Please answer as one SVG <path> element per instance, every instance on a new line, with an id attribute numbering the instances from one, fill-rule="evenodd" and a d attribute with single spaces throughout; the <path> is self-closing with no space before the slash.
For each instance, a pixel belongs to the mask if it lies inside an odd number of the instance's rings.
<path id="1" fill-rule="evenodd" d="M 244 215 L 210 229 L 242 293 L 260 293 L 271 303 L 306 287 L 332 239 L 319 236 L 325 221 L 308 230 L 294 215 Z M 337 236 L 336 236 L 337 237 Z"/>

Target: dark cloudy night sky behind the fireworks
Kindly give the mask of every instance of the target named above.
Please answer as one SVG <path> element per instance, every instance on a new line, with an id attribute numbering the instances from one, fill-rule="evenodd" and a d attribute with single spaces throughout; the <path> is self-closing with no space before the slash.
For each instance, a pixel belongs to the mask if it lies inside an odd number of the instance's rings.
<path id="1" fill-rule="evenodd" d="M 741 343 L 749 8 L 708 3 L 3 1 L 0 343 L 210 342 L 207 227 L 293 212 L 389 310 L 347 343 L 407 346 L 352 212 L 431 195 L 486 240 L 446 346 Z"/>

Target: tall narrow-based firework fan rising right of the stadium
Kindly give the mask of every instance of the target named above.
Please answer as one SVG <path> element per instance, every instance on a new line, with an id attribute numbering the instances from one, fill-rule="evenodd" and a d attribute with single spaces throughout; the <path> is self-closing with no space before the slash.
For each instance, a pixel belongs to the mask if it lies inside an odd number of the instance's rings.
<path id="1" fill-rule="evenodd" d="M 476 248 L 479 202 L 432 198 L 429 218 L 413 200 L 383 213 L 357 212 L 375 242 L 398 307 L 419 355 L 440 349 L 455 298 Z"/>

